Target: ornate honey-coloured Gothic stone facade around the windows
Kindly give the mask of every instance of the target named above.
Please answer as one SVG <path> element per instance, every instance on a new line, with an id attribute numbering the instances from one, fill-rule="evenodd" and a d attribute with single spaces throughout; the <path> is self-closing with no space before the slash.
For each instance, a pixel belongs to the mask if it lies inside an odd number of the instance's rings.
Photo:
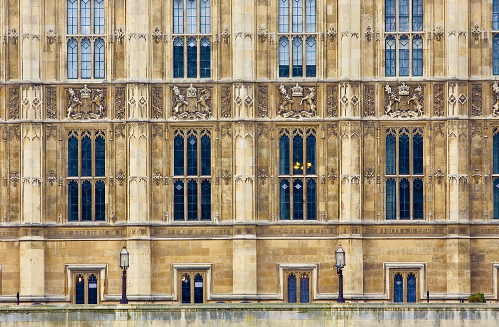
<path id="1" fill-rule="evenodd" d="M 284 78 L 276 2 L 212 0 L 211 77 L 184 79 L 172 1 L 105 0 L 105 77 L 68 79 L 66 1 L 0 0 L 0 302 L 74 303 L 74 274 L 96 272 L 117 303 L 123 246 L 130 301 L 179 303 L 180 272 L 202 271 L 205 302 L 285 302 L 294 270 L 331 302 L 340 242 L 347 301 L 393 301 L 411 271 L 417 301 L 499 302 L 492 3 L 425 0 L 423 76 L 385 77 L 384 1 L 317 0 L 317 77 Z M 211 219 L 179 222 L 173 141 L 193 128 L 211 137 Z M 293 128 L 316 133 L 313 221 L 279 219 Z M 390 128 L 421 131 L 421 220 L 385 219 Z M 72 222 L 68 138 L 86 132 L 105 139 L 104 220 Z"/>

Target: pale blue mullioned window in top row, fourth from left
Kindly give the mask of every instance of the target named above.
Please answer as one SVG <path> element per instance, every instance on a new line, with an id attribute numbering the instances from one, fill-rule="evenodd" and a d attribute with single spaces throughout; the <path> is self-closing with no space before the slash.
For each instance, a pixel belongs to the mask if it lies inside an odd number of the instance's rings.
<path id="1" fill-rule="evenodd" d="M 385 76 L 423 76 L 423 0 L 385 0 Z"/>

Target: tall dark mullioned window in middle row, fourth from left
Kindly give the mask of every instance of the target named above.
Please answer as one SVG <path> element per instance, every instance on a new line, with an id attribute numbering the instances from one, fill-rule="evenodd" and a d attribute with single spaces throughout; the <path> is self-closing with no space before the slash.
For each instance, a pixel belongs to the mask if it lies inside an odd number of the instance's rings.
<path id="1" fill-rule="evenodd" d="M 387 128 L 386 219 L 424 219 L 423 129 Z"/>

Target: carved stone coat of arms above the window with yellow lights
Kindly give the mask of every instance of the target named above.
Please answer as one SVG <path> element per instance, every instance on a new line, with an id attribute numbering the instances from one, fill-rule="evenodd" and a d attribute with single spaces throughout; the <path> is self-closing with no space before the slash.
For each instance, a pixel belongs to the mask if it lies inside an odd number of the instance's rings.
<path id="1" fill-rule="evenodd" d="M 303 96 L 303 88 L 296 83 L 291 90 L 292 96 L 288 94 L 282 84 L 279 86 L 279 115 L 283 118 L 315 117 L 317 115 L 316 89 L 309 87 L 308 93 L 305 90 L 305 96 Z M 295 97 L 301 97 L 298 105 L 296 105 L 297 102 L 293 99 Z"/>

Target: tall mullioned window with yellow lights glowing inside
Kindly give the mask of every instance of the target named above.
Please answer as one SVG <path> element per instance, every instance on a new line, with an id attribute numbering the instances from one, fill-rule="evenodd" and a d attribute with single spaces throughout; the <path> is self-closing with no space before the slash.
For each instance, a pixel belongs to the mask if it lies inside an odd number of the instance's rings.
<path id="1" fill-rule="evenodd" d="M 282 129 L 279 136 L 279 219 L 317 219 L 315 129 Z"/>

